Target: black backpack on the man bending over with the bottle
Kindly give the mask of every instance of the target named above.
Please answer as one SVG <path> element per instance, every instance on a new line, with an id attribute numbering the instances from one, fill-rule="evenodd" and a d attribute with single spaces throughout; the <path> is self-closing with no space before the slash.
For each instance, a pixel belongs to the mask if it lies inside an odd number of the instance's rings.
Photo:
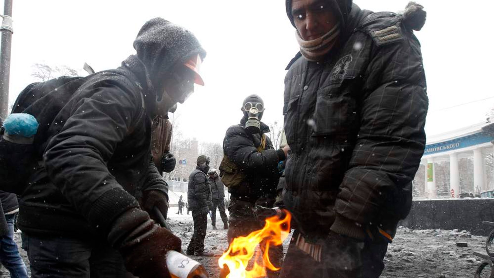
<path id="1" fill-rule="evenodd" d="M 40 167 L 39 162 L 42 160 L 43 147 L 51 123 L 74 93 L 96 74 L 85 77 L 62 76 L 46 82 L 33 83 L 19 94 L 11 113 L 33 115 L 39 123 L 39 128 L 30 144 L 6 140 L 4 128 L 0 128 L 0 190 L 16 194 L 24 192 L 27 179 Z M 133 86 L 128 81 L 123 81 Z M 142 94 L 141 100 L 144 107 Z"/>

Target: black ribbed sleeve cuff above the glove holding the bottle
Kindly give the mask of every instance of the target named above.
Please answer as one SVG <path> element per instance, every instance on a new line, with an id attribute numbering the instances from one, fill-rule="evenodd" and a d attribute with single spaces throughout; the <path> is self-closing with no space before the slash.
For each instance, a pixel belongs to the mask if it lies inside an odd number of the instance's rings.
<path id="1" fill-rule="evenodd" d="M 94 203 L 88 214 L 89 224 L 103 234 L 108 234 L 112 223 L 131 208 L 138 208 L 139 203 L 124 188 L 114 187 L 103 193 Z"/>

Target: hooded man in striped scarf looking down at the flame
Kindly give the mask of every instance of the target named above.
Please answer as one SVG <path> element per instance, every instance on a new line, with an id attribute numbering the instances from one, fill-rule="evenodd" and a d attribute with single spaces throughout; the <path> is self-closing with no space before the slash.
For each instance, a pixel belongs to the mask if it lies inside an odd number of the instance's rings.
<path id="1" fill-rule="evenodd" d="M 291 153 L 283 200 L 296 221 L 281 277 L 379 277 L 409 213 L 428 99 L 425 11 L 286 0 L 300 52 L 285 78 Z"/>

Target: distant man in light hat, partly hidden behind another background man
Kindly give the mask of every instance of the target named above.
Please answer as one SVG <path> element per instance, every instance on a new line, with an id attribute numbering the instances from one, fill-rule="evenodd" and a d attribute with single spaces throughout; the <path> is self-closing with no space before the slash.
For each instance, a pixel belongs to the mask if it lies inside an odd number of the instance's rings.
<path id="1" fill-rule="evenodd" d="M 228 216 L 225 213 L 225 185 L 218 176 L 218 172 L 215 169 L 209 170 L 207 173 L 209 176 L 209 184 L 211 185 L 211 196 L 213 206 L 211 209 L 211 226 L 213 230 L 216 230 L 216 208 L 219 210 L 219 215 L 223 221 L 223 229 L 228 229 Z"/>

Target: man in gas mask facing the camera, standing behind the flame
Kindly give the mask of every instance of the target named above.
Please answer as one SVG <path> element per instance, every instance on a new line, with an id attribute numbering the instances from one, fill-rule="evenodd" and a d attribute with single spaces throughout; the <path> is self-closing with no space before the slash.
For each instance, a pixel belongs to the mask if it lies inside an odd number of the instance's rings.
<path id="1" fill-rule="evenodd" d="M 242 103 L 243 117 L 240 124 L 231 126 L 223 140 L 224 158 L 220 176 L 228 187 L 230 204 L 228 210 L 228 241 L 261 229 L 262 221 L 254 214 L 254 207 L 272 207 L 276 199 L 276 187 L 280 178 L 278 163 L 285 160 L 288 147 L 275 150 L 266 133 L 269 127 L 261 122 L 264 102 L 251 94 Z M 235 169 L 231 171 L 231 169 Z M 269 249 L 270 260 L 280 267 L 283 247 Z M 278 272 L 267 270 L 268 277 L 278 277 Z"/>

